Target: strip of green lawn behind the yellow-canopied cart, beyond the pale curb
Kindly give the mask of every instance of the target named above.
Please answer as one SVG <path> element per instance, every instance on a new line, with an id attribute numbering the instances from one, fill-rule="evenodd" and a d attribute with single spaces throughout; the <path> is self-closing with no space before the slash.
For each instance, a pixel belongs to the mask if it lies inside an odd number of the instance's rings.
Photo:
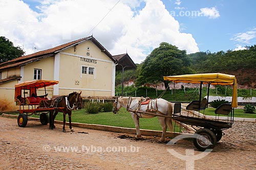
<path id="1" fill-rule="evenodd" d="M 204 113 L 205 115 L 215 116 L 215 108 L 206 108 L 203 112 L 201 110 L 201 113 Z M 224 116 L 224 115 L 220 115 Z M 234 109 L 234 117 L 243 117 L 243 118 L 256 118 L 256 114 L 250 114 L 250 113 L 244 113 L 244 109 Z"/>

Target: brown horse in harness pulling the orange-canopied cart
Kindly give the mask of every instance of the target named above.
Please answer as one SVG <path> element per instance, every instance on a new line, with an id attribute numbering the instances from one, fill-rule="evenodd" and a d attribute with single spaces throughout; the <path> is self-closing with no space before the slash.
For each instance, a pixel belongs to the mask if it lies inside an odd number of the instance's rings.
<path id="1" fill-rule="evenodd" d="M 63 113 L 63 132 L 66 132 L 65 124 L 66 124 L 66 114 L 69 115 L 69 128 L 72 132 L 74 132 L 74 129 L 72 129 L 71 125 L 71 115 L 72 110 L 75 109 L 81 109 L 82 108 L 82 97 L 81 92 L 73 92 L 70 93 L 68 96 L 61 95 L 57 96 L 53 99 L 51 99 L 51 107 L 56 107 L 56 109 L 50 111 L 50 121 L 49 121 L 49 129 L 54 129 L 54 119 L 58 112 Z M 64 107 L 64 109 L 58 109 L 59 107 Z"/>

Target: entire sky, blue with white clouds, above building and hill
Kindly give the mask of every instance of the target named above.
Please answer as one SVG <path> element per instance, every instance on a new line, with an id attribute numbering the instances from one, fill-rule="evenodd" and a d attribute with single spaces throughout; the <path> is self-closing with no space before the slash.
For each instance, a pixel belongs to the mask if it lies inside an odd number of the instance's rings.
<path id="1" fill-rule="evenodd" d="M 187 54 L 254 45 L 255 6 L 254 0 L 1 0 L 0 36 L 28 55 L 93 34 L 112 55 L 127 51 L 140 63 L 161 42 Z"/>

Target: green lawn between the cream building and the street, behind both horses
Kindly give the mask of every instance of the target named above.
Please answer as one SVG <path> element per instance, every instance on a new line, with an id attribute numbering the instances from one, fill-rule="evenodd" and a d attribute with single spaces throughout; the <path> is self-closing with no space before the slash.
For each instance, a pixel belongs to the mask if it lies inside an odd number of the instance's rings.
<path id="1" fill-rule="evenodd" d="M 33 117 L 39 117 L 38 115 L 32 115 Z M 63 120 L 63 114 L 58 113 L 55 120 Z M 68 115 L 66 121 L 69 121 Z M 113 112 L 100 112 L 97 114 L 86 113 L 84 109 L 72 111 L 72 122 L 84 123 L 84 124 L 96 124 L 96 125 L 108 125 L 124 128 L 135 128 L 133 118 L 129 112 L 124 108 L 121 108 L 119 114 Z M 173 124 L 174 126 L 174 124 Z M 140 118 L 140 129 L 148 130 L 162 130 L 161 125 L 157 117 L 153 118 Z M 176 125 L 176 131 L 179 131 L 179 127 Z M 167 129 L 168 131 L 168 129 Z"/>

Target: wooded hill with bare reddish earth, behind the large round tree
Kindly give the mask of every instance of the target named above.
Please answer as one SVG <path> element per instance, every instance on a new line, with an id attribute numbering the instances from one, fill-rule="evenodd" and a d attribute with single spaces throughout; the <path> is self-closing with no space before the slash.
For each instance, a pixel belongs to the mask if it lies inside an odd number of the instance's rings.
<path id="1" fill-rule="evenodd" d="M 190 68 L 195 73 L 221 72 L 237 77 L 240 88 L 256 88 L 256 45 L 247 46 L 246 50 L 227 52 L 198 52 L 189 54 Z M 124 71 L 124 82 L 133 84 L 139 76 L 141 64 L 137 70 Z M 150 76 L 150 75 L 149 75 Z M 166 75 L 168 76 L 168 75 Z M 122 72 L 116 72 L 116 85 L 122 82 Z"/>

